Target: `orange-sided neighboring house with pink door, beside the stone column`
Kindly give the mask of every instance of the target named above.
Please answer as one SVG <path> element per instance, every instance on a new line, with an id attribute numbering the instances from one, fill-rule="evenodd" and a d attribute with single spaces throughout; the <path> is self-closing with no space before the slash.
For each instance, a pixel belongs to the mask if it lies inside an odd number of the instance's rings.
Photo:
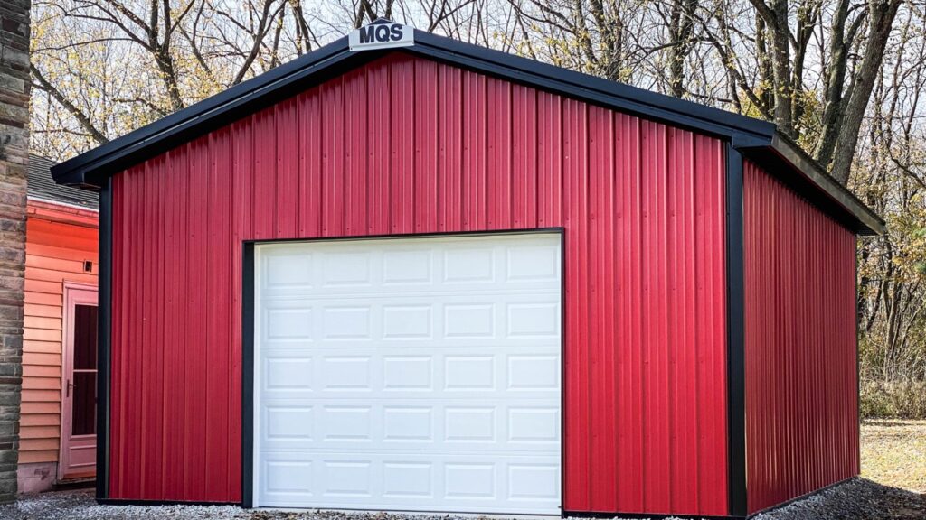
<path id="1" fill-rule="evenodd" d="M 19 491 L 95 477 L 98 196 L 29 158 Z"/>

